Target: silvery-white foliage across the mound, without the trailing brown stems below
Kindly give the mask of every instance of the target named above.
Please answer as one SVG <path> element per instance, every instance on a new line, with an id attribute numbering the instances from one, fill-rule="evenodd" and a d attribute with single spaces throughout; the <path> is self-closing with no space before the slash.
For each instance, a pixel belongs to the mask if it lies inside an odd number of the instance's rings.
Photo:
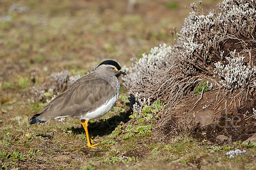
<path id="1" fill-rule="evenodd" d="M 192 74 L 198 74 L 196 71 L 212 74 L 215 65 L 218 67 L 218 74 L 223 76 L 230 70 L 231 66 L 225 68 L 225 65 L 218 63 L 219 60 L 222 61 L 226 57 L 230 57 L 224 55 L 221 45 L 225 45 L 225 42 L 231 42 L 228 40 L 239 40 L 239 38 L 245 41 L 239 41 L 241 48 L 244 47 L 243 43 L 255 42 L 252 38 L 256 27 L 256 3 L 254 1 L 224 0 L 218 4 L 217 8 L 210 9 L 208 14 L 202 12 L 200 5 L 201 2 L 199 6 L 195 3 L 191 4 L 190 14 L 185 19 L 184 26 L 178 34 L 177 45 L 154 47 L 150 54 L 143 54 L 141 59 L 132 60 L 133 63 L 132 67 L 128 69 L 128 76 L 122 77 L 123 84 L 131 94 L 138 92 L 143 97 L 158 94 L 155 93 L 155 88 L 160 89 L 164 83 L 169 83 L 164 80 L 166 79 L 164 75 L 170 75 L 171 78 L 175 77 L 172 72 L 177 70 L 175 70 L 176 68 L 172 69 L 174 68 L 173 61 L 180 69 L 176 74 L 180 74 L 180 77 L 185 78 Z M 230 59 L 227 61 L 230 62 L 229 65 L 242 60 L 241 58 L 239 61 L 233 61 L 234 57 L 227 59 Z M 217 63 L 214 65 L 214 62 Z M 223 83 L 227 88 L 239 88 L 247 85 L 249 79 L 255 79 L 250 77 L 254 68 L 249 68 L 243 64 L 240 68 L 237 66 L 236 69 L 240 69 L 239 73 L 236 71 L 236 74 L 239 74 L 238 77 L 234 78 L 231 74 L 224 75 L 221 84 Z M 230 71 L 235 70 L 231 69 Z M 239 82 L 234 82 L 235 79 L 238 79 Z M 172 84 L 174 83 L 172 82 Z M 213 85 L 208 86 L 212 88 Z M 169 89 L 175 89 L 171 85 L 169 87 Z M 178 89 L 180 88 L 182 87 Z M 177 94 L 177 91 L 167 91 L 166 89 L 163 91 L 166 94 L 172 93 L 168 94 L 170 97 Z M 180 96 L 183 96 L 183 93 L 184 90 L 180 91 Z"/>

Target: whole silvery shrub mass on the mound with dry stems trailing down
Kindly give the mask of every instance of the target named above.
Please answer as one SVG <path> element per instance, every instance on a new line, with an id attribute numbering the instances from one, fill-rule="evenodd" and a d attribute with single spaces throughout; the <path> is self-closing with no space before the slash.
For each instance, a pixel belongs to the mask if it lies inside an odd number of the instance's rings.
<path id="1" fill-rule="evenodd" d="M 222 98 L 239 98 L 239 105 L 241 99 L 245 104 L 247 96 L 252 99 L 255 94 L 256 2 L 224 0 L 208 14 L 202 12 L 200 5 L 201 2 L 199 6 L 191 4 L 176 45 L 163 49 L 168 52 L 161 55 L 151 51 L 139 61 L 133 60 L 130 77 L 123 79 L 131 94 L 150 98 L 151 103 L 165 102 L 165 114 L 154 129 L 159 132 L 156 138 L 161 133 L 175 136 L 195 132 L 192 113 L 184 115 L 175 108 L 203 79 L 218 85 L 225 94 Z"/>

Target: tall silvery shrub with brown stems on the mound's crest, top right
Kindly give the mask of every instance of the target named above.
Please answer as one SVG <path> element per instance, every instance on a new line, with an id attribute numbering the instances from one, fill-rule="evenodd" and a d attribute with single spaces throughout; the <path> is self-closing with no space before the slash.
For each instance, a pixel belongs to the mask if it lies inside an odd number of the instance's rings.
<path id="1" fill-rule="evenodd" d="M 196 74 L 195 71 L 212 74 L 215 69 L 212 63 L 222 60 L 223 51 L 228 52 L 221 48 L 228 40 L 239 40 L 240 48 L 253 44 L 255 47 L 255 1 L 224 0 L 209 14 L 204 14 L 195 3 L 190 10 L 177 39 L 180 67 L 185 74 Z"/>

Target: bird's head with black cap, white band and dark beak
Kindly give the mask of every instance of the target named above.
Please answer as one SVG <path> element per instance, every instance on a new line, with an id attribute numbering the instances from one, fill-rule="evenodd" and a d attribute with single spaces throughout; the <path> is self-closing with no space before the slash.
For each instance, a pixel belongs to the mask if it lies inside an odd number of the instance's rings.
<path id="1" fill-rule="evenodd" d="M 106 60 L 98 65 L 95 70 L 101 74 L 106 74 L 108 76 L 119 77 L 121 74 L 127 75 L 125 72 L 121 70 L 120 65 L 113 60 Z"/>

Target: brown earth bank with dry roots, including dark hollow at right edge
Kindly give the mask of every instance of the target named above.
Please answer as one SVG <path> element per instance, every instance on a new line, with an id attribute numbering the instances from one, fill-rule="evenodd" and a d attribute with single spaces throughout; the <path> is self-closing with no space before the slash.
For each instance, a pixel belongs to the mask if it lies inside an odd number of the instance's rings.
<path id="1" fill-rule="evenodd" d="M 245 65 L 250 65 L 250 67 L 256 65 L 255 41 L 250 38 L 234 36 L 222 42 L 218 51 L 224 51 L 223 56 L 229 56 L 230 52 L 234 50 L 240 56 L 245 57 Z M 214 59 L 217 60 L 214 61 Z M 215 74 L 213 63 L 217 61 L 220 61 L 220 58 L 216 55 L 213 57 L 212 64 L 209 65 L 209 68 L 212 69 L 211 72 L 196 71 L 194 75 L 187 76 L 188 78 L 181 77 L 181 79 L 195 79 L 190 86 L 186 82 L 182 82 L 180 78 L 177 80 L 189 88 L 184 90 L 185 96 L 180 100 L 177 99 L 175 102 L 170 100 L 173 90 L 169 88 L 172 87 L 171 84 L 170 86 L 166 85 L 167 89 L 155 90 L 157 93 L 152 95 L 153 99 L 163 99 L 167 103 L 167 110 L 156 128 L 159 134 L 168 136 L 163 139 L 164 141 L 170 140 L 171 136 L 178 133 L 185 133 L 201 141 L 206 139 L 213 144 L 227 144 L 244 142 L 256 133 L 256 113 L 253 112 L 253 108 L 256 108 L 255 85 L 246 85 L 236 90 L 224 89 L 218 84 L 221 79 L 217 76 L 213 77 Z M 221 62 L 224 65 L 228 64 L 225 57 Z M 175 68 L 173 71 L 177 70 L 179 68 Z M 173 71 L 171 69 L 167 73 L 166 79 L 172 78 Z M 207 81 L 215 83 L 215 89 L 195 95 L 194 91 L 198 85 Z M 180 87 L 183 86 L 180 85 Z M 162 91 L 164 93 L 161 93 Z M 160 136 L 158 135 L 157 138 Z M 250 138 L 250 142 L 255 142 L 255 139 Z"/>

